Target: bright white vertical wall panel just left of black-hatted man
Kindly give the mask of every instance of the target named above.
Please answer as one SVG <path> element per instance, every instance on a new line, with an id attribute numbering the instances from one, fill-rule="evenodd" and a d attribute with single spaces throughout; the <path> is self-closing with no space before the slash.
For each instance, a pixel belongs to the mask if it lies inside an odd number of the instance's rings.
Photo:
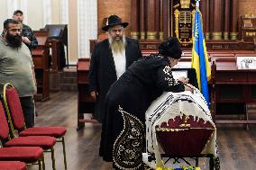
<path id="1" fill-rule="evenodd" d="M 90 58 L 89 40 L 97 39 L 97 1 L 78 0 L 78 58 Z"/>

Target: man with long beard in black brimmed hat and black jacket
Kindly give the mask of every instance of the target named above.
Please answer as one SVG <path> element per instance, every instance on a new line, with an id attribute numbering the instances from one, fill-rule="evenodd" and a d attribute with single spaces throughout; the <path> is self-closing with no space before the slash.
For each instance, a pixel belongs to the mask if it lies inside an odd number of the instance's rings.
<path id="1" fill-rule="evenodd" d="M 137 40 L 125 37 L 124 28 L 128 22 L 122 22 L 117 15 L 110 15 L 106 25 L 108 39 L 96 43 L 90 60 L 89 91 L 96 100 L 93 117 L 102 122 L 105 94 L 111 85 L 123 75 L 133 61 L 142 57 Z"/>

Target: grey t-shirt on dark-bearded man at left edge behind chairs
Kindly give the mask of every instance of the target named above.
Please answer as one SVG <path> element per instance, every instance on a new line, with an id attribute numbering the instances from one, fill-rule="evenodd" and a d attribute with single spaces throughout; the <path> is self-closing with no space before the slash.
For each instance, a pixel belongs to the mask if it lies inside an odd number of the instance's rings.
<path id="1" fill-rule="evenodd" d="M 0 83 L 11 83 L 20 97 L 32 96 L 36 92 L 32 76 L 32 55 L 23 43 L 20 48 L 10 47 L 0 37 Z M 3 94 L 0 90 L 0 94 Z"/>

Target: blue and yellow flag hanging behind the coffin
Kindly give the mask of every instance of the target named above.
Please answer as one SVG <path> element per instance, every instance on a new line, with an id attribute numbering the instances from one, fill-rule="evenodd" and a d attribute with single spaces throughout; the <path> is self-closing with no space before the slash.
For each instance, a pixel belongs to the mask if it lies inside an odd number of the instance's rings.
<path id="1" fill-rule="evenodd" d="M 199 90 L 205 96 L 206 102 L 209 105 L 207 81 L 211 77 L 211 67 L 209 66 L 209 60 L 206 51 L 206 41 L 202 27 L 201 13 L 198 7 L 196 8 L 195 13 L 191 67 L 196 69 Z"/>

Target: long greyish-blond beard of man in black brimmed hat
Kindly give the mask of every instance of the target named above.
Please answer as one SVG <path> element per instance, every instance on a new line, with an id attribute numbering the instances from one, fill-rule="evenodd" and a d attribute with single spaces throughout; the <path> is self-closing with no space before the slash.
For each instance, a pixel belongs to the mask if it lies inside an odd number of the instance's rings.
<path id="1" fill-rule="evenodd" d="M 126 40 L 124 34 L 123 37 L 120 37 L 120 40 L 115 40 L 113 37 L 108 36 L 108 41 L 114 53 L 122 53 L 125 49 Z"/>

